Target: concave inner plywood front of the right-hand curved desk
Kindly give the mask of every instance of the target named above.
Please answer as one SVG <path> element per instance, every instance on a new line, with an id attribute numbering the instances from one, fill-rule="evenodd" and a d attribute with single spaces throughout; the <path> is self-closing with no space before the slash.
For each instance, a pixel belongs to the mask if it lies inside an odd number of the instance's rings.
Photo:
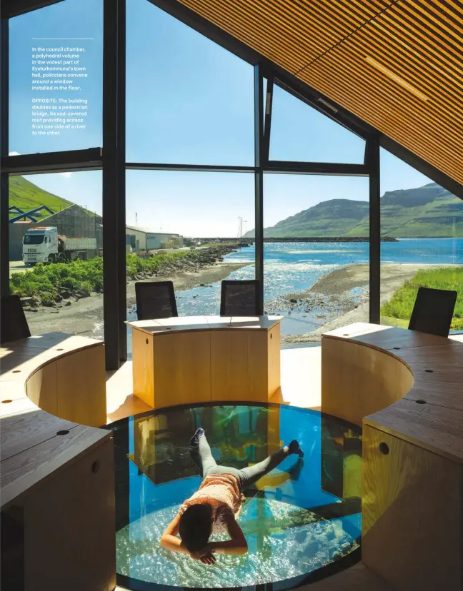
<path id="1" fill-rule="evenodd" d="M 349 340 L 322 338 L 322 412 L 362 425 L 365 415 L 404 396 L 409 368 L 386 352 Z"/>

